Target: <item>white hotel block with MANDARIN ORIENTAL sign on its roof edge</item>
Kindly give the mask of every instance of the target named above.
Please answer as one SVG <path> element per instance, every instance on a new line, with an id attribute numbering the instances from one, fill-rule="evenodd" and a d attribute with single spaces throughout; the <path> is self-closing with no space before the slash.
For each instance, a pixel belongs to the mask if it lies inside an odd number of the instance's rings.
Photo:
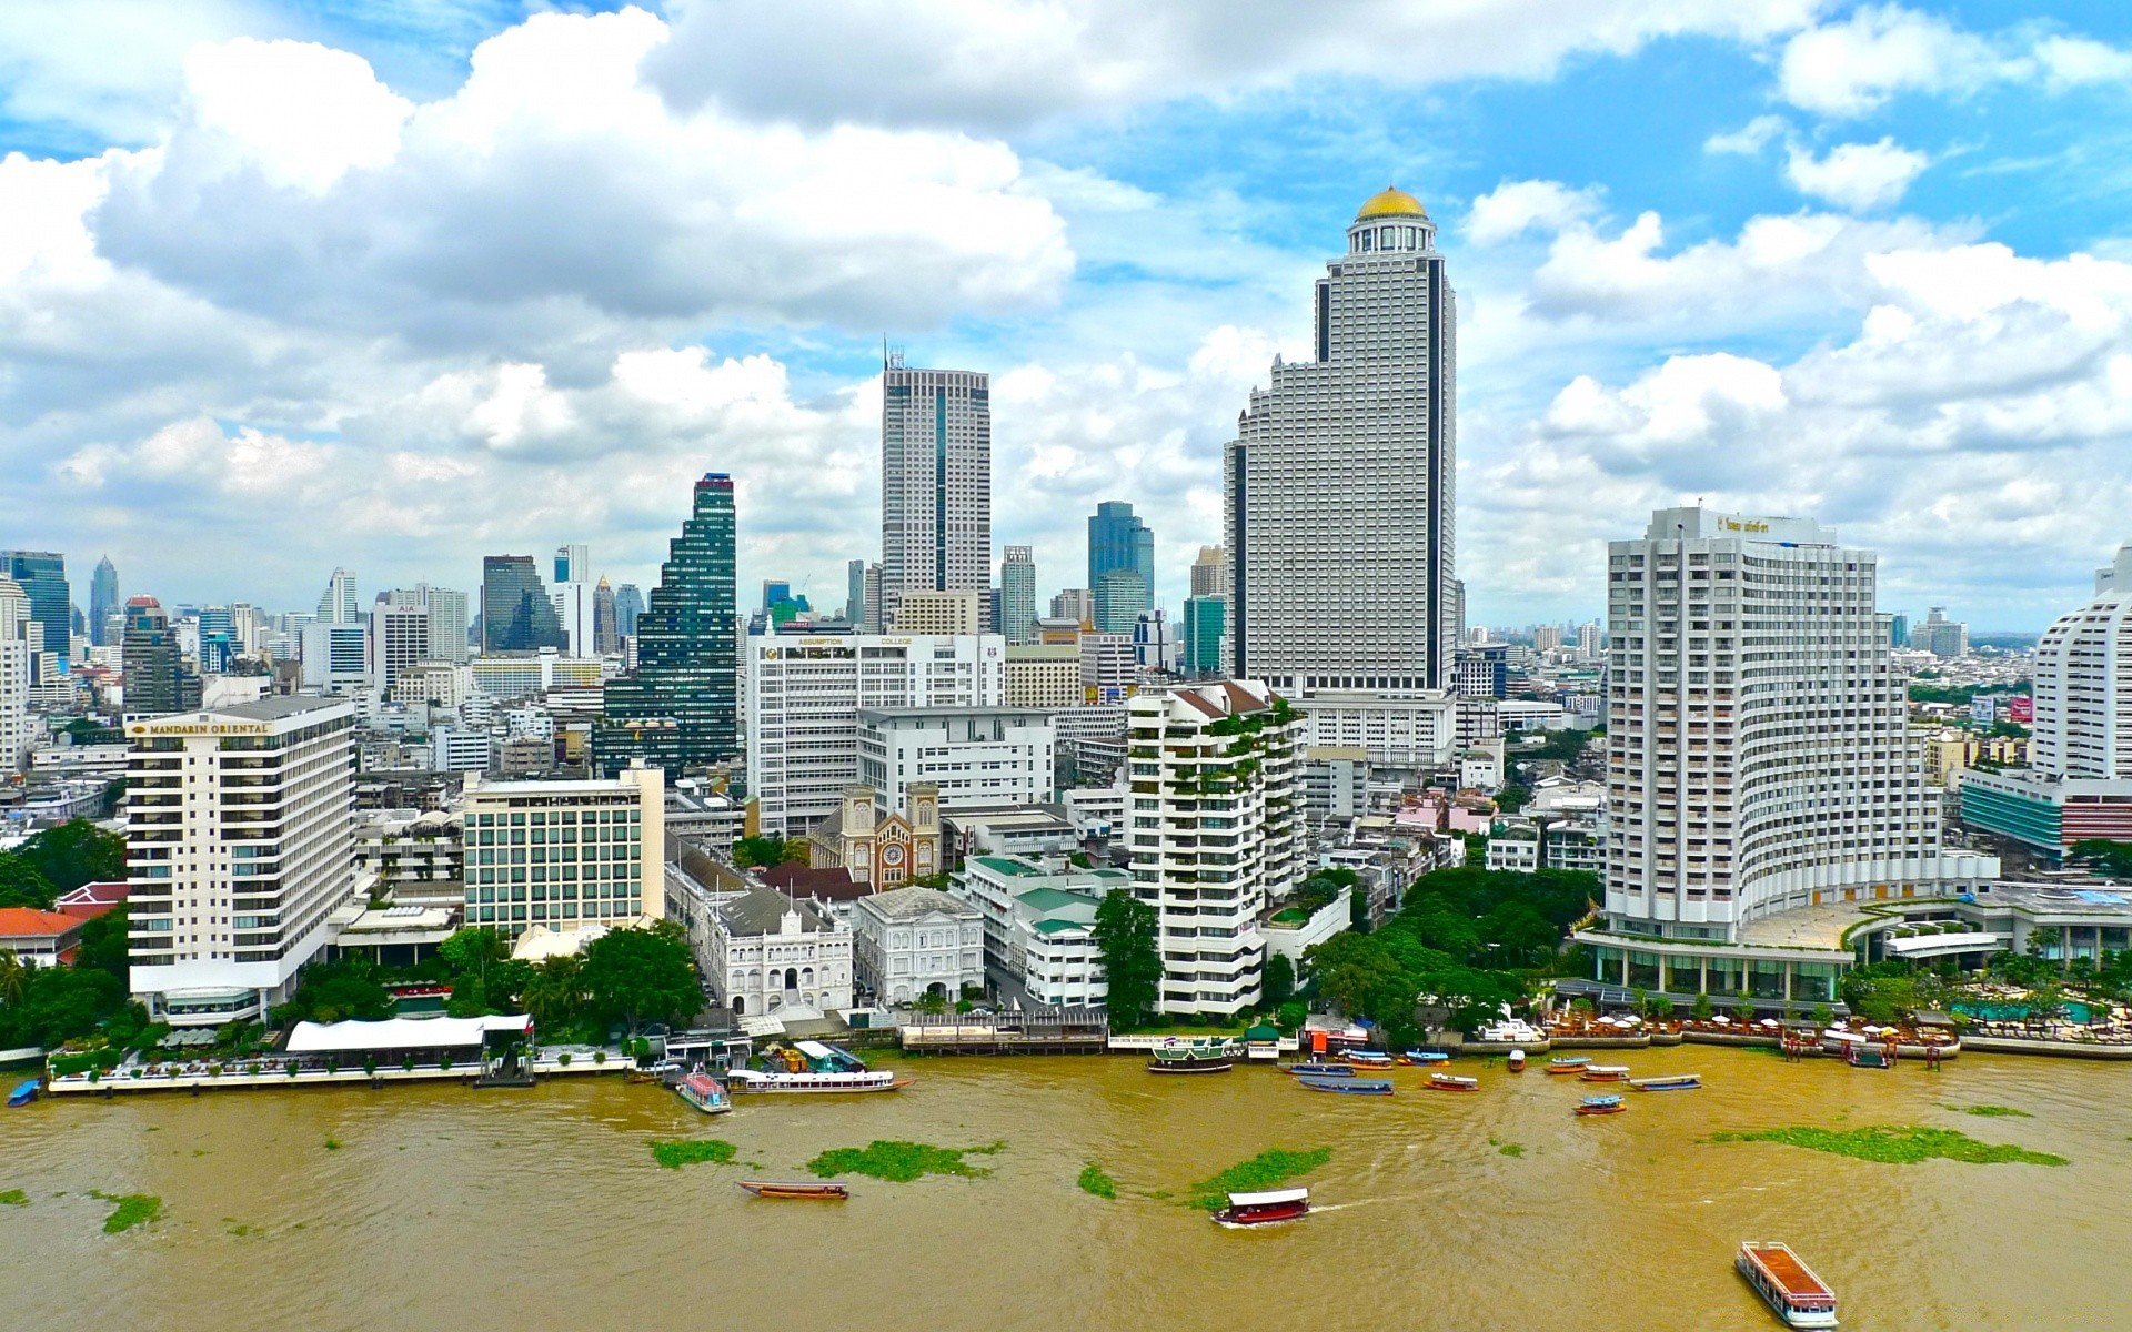
<path id="1" fill-rule="evenodd" d="M 281 697 L 126 725 L 132 993 L 173 1027 L 264 1021 L 356 895 L 356 712 Z"/>

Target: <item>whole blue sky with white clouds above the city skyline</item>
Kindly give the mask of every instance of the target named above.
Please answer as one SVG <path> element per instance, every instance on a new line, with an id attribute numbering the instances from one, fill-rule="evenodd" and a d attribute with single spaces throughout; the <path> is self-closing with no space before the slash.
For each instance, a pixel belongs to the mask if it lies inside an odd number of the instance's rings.
<path id="1" fill-rule="evenodd" d="M 2036 629 L 2132 539 L 2132 13 L 1840 0 L 0 13 L 0 543 L 303 607 L 699 471 L 742 578 L 878 546 L 874 369 L 996 375 L 996 541 L 1217 537 L 1217 456 L 1388 181 L 1460 290 L 1477 622 L 1650 507 L 1812 514 Z M 812 23 L 812 26 L 808 26 Z"/>

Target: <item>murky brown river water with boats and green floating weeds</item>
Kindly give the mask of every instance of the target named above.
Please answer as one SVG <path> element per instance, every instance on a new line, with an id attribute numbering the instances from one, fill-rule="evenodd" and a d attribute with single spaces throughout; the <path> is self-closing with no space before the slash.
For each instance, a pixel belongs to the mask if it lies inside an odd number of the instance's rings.
<path id="1" fill-rule="evenodd" d="M 30 1196 L 0 1206 L 0 1323 L 1776 1328 L 1731 1255 L 1782 1238 L 1836 1287 L 1844 1328 L 2132 1328 L 2132 1068 L 1970 1055 L 1885 1074 L 1695 1046 L 1627 1061 L 1708 1087 L 1580 1121 L 1590 1089 L 1539 1072 L 1480 1070 L 1482 1091 L 1454 1095 L 1401 1070 L 1399 1095 L 1356 1100 L 1111 1057 L 906 1061 L 919 1083 L 900 1095 L 744 1102 L 721 1121 L 616 1078 L 47 1100 L 0 1110 L 0 1189 Z M 2032 1119 L 1944 1108 L 1981 1102 Z M 1932 1123 L 2072 1164 L 1701 1142 L 1789 1123 Z M 648 1140 L 689 1134 L 765 1174 L 872 1138 L 1006 1149 L 976 1157 L 991 1179 L 861 1179 L 846 1204 L 780 1204 L 740 1193 L 740 1166 L 652 1164 Z M 1147 1193 L 1320 1144 L 1320 1213 L 1266 1232 L 1075 1187 L 1089 1159 Z M 156 1193 L 164 1219 L 107 1236 L 87 1189 Z"/>

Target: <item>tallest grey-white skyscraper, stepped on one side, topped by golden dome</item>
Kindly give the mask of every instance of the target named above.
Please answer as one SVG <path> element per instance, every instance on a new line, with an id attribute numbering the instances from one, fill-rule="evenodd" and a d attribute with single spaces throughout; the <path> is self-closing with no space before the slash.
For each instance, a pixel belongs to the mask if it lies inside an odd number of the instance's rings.
<path id="1" fill-rule="evenodd" d="M 1315 313 L 1318 358 L 1273 362 L 1224 458 L 1230 669 L 1294 699 L 1445 688 L 1456 309 L 1414 196 L 1362 205 Z"/>

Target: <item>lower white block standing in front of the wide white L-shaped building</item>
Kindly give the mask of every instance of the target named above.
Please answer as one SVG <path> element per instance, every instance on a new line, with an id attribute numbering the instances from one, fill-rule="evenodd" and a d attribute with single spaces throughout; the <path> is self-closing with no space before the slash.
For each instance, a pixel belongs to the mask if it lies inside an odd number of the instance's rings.
<path id="1" fill-rule="evenodd" d="M 1051 714 L 1019 708 L 868 708 L 859 714 L 859 780 L 885 810 L 908 806 L 912 782 L 940 789 L 940 808 L 1038 806 L 1053 795 Z"/>

